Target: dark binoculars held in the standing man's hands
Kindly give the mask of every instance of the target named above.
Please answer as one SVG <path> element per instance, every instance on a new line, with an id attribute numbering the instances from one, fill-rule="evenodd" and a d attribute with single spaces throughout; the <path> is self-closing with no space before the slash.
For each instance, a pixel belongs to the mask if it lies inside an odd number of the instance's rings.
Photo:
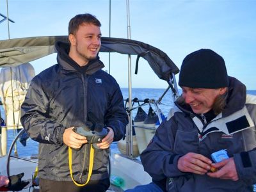
<path id="1" fill-rule="evenodd" d="M 101 143 L 102 139 L 108 134 L 109 129 L 104 127 L 103 124 L 97 123 L 92 130 L 92 123 L 86 122 L 86 125 L 75 127 L 73 131 L 85 136 L 88 143 Z"/>

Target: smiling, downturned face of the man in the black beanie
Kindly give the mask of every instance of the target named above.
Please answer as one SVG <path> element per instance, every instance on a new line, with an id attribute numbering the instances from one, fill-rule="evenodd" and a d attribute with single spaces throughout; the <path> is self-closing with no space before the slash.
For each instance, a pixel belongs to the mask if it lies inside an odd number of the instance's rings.
<path id="1" fill-rule="evenodd" d="M 223 95 L 227 88 L 206 89 L 206 88 L 188 88 L 182 87 L 182 97 L 186 104 L 196 114 L 207 113 L 212 109 L 216 97 Z"/>

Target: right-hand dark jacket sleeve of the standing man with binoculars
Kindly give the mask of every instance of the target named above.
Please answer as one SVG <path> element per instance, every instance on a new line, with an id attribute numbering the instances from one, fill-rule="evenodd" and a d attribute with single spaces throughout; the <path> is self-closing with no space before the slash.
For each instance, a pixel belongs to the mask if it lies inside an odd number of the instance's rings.
<path id="1" fill-rule="evenodd" d="M 122 92 L 116 82 L 113 84 L 113 95 L 109 100 L 104 119 L 106 126 L 114 131 L 114 141 L 120 140 L 128 124 L 128 115 L 124 108 Z"/>

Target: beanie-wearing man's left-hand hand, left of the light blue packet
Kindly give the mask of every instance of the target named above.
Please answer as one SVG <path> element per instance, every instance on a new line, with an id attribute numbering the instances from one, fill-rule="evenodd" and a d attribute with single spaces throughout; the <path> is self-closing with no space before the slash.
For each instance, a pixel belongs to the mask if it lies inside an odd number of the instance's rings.
<path id="1" fill-rule="evenodd" d="M 178 168 L 181 172 L 190 172 L 204 175 L 211 168 L 212 161 L 205 156 L 189 152 L 178 160 Z"/>

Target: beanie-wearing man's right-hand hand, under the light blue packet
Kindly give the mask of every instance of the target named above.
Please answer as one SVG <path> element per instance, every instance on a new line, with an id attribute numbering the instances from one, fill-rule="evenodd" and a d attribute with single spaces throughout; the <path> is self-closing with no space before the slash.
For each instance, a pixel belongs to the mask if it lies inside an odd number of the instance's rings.
<path id="1" fill-rule="evenodd" d="M 220 168 L 220 170 L 214 173 L 207 173 L 209 177 L 216 177 L 220 179 L 230 179 L 234 181 L 239 179 L 233 157 L 225 159 L 220 163 L 212 163 L 212 166 L 214 166 L 215 168 Z"/>

